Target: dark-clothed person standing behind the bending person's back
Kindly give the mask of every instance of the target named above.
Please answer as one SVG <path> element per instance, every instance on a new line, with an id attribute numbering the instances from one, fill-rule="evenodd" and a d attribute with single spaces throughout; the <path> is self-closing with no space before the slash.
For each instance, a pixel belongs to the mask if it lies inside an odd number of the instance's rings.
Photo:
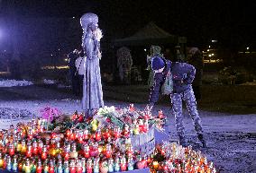
<path id="1" fill-rule="evenodd" d="M 204 58 L 201 51 L 198 48 L 189 48 L 188 49 L 188 64 L 193 65 L 196 68 L 196 76 L 192 82 L 192 88 L 195 92 L 196 99 L 199 100 L 202 98 L 201 87 L 202 87 L 202 76 L 204 68 Z"/>

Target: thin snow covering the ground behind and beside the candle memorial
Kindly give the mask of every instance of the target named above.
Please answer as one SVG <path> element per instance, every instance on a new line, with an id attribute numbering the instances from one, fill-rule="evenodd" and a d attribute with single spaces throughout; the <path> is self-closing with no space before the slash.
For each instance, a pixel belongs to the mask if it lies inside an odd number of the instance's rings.
<path id="1" fill-rule="evenodd" d="M 0 89 L 0 108 L 26 109 L 35 116 L 39 116 L 40 109 L 45 107 L 59 108 L 65 114 L 72 114 L 75 110 L 81 111 L 80 100 L 69 95 L 69 93 L 36 86 L 25 88 L 26 90 L 15 87 Z M 124 108 L 128 107 L 129 103 L 105 100 L 105 105 Z M 134 103 L 134 106 L 143 109 L 145 104 Z M 169 107 L 160 105 L 153 109 L 153 114 L 157 114 L 159 109 L 169 115 Z M 199 110 L 199 114 L 202 118 L 208 147 L 203 149 L 197 142 L 191 118 L 185 111 L 184 123 L 188 143 L 195 150 L 205 153 L 208 160 L 213 160 L 220 172 L 256 172 L 256 114 L 231 115 L 201 110 Z M 170 140 L 177 140 L 173 116 L 169 117 L 169 125 Z M 1 126 L 0 128 L 7 126 Z"/>

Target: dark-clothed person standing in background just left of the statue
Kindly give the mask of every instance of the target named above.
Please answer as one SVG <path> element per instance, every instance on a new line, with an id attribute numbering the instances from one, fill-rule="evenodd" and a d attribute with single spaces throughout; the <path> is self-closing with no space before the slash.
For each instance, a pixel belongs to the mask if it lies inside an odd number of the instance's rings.
<path id="1" fill-rule="evenodd" d="M 72 52 L 69 53 L 69 79 L 71 81 L 71 87 L 72 87 L 72 92 L 76 96 L 78 96 L 78 76 L 76 75 L 76 65 L 75 62 L 78 58 L 78 49 L 73 50 Z"/>

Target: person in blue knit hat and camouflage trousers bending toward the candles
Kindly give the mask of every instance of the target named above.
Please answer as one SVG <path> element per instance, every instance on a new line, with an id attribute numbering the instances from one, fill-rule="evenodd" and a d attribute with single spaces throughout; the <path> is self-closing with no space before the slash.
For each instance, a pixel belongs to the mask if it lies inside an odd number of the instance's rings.
<path id="1" fill-rule="evenodd" d="M 196 74 L 196 69 L 193 65 L 182 63 L 178 58 L 178 61 L 171 63 L 170 61 L 164 61 L 160 57 L 154 57 L 151 63 L 152 69 L 155 72 L 154 84 L 151 87 L 151 94 L 147 109 L 155 105 L 159 99 L 160 87 L 165 80 L 165 76 L 171 67 L 171 74 L 173 80 L 173 93 L 170 94 L 171 109 L 175 115 L 175 124 L 177 128 L 179 143 L 186 146 L 185 140 L 185 128 L 183 125 L 182 114 L 182 100 L 187 104 L 188 112 L 194 122 L 195 130 L 197 131 L 198 139 L 206 147 L 206 141 L 203 135 L 203 129 L 201 126 L 201 118 L 197 112 L 197 101 L 191 86 Z"/>

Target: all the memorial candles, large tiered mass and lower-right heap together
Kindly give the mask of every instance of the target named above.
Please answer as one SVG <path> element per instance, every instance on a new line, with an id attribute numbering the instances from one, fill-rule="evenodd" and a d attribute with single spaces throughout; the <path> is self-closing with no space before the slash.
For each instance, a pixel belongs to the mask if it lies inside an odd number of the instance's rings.
<path id="1" fill-rule="evenodd" d="M 64 134 L 47 132 L 49 122 L 45 119 L 32 120 L 17 128 L 11 126 L 8 131 L 0 131 L 0 171 L 107 173 L 150 167 L 153 173 L 215 173 L 213 163 L 207 162 L 200 151 L 177 143 L 157 146 L 149 157 L 133 151 L 130 137 L 148 132 L 150 116 L 145 112 L 143 117 L 133 120 L 132 126 L 124 125 L 123 129 L 68 129 Z M 158 118 L 164 118 L 161 110 Z M 125 141 L 124 149 L 116 144 L 119 139 Z M 164 160 L 156 159 L 157 155 Z"/>

